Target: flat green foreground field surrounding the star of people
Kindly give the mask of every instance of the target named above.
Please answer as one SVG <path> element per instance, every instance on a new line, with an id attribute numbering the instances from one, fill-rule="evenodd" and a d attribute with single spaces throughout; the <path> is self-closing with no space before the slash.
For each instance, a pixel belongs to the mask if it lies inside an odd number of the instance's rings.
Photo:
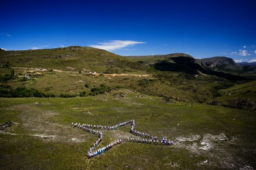
<path id="1" fill-rule="evenodd" d="M 253 169 L 255 112 L 161 102 L 161 97 L 113 90 L 94 97 L 0 98 L 1 169 Z M 165 136 L 174 146 L 124 143 L 94 159 L 96 136 L 70 123 L 115 125 L 134 119 L 135 130 Z M 7 121 L 13 123 L 6 125 Z M 103 131 L 100 146 L 131 136 L 128 126 Z M 208 161 L 206 161 L 208 160 Z M 206 161 L 204 163 L 204 161 Z"/>

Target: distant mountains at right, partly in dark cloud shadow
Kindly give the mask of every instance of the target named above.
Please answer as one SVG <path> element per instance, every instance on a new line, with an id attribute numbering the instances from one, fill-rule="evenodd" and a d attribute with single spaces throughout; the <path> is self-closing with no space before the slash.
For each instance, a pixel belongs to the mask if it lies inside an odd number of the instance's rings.
<path id="1" fill-rule="evenodd" d="M 129 58 L 147 66 L 152 66 L 160 71 L 176 71 L 188 74 L 204 73 L 231 80 L 252 79 L 252 77 L 249 78 L 241 75 L 241 73 L 246 73 L 249 70 L 239 66 L 232 58 L 228 57 L 196 59 L 188 54 L 174 53 L 167 55 L 130 56 Z M 255 68 L 250 69 L 250 72 L 254 71 L 256 71 Z"/>

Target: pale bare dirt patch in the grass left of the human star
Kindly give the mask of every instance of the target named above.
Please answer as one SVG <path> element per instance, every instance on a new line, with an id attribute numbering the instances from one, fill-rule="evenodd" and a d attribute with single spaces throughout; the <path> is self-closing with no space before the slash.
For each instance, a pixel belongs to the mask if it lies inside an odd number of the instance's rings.
<path id="1" fill-rule="evenodd" d="M 40 105 L 42 104 L 22 104 L 8 108 L 9 110 L 20 111 L 18 117 L 22 121 L 24 130 L 28 132 L 28 134 L 13 133 L 13 135 L 32 135 L 35 137 L 41 137 L 45 141 L 74 143 L 85 142 L 88 141 L 90 137 L 93 137 L 93 135 L 89 137 L 89 133 L 76 130 L 71 128 L 71 126 L 53 122 L 51 118 L 55 115 L 59 115 L 59 113 L 42 110 L 39 107 Z M 7 132 L 4 133 L 8 134 Z"/>

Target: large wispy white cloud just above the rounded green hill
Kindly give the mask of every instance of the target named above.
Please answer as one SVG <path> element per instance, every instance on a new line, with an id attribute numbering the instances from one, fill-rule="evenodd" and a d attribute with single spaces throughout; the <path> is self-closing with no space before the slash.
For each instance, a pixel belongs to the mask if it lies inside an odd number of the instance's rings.
<path id="1" fill-rule="evenodd" d="M 93 48 L 105 49 L 113 51 L 116 49 L 123 49 L 128 46 L 134 46 L 136 44 L 144 44 L 146 42 L 130 41 L 130 40 L 111 40 L 106 42 L 98 42 L 100 45 L 89 45 Z"/>

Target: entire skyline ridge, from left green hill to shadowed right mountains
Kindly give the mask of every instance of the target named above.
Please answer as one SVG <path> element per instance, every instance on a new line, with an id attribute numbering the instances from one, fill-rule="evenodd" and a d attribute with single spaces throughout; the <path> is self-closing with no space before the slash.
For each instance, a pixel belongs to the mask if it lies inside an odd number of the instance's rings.
<path id="1" fill-rule="evenodd" d="M 143 74 L 158 70 L 207 74 L 230 80 L 256 79 L 255 66 L 236 64 L 228 57 L 196 59 L 184 53 L 124 57 L 106 50 L 81 46 L 23 51 L 0 49 L 0 64 L 4 64 L 6 59 L 11 66 L 25 68 Z"/>

